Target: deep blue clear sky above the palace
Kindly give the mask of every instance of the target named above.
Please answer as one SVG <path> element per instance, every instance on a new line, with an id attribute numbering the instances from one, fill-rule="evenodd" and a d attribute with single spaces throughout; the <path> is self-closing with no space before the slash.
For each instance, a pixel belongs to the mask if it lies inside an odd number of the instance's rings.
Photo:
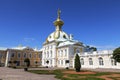
<path id="1" fill-rule="evenodd" d="M 75 40 L 99 50 L 120 46 L 120 0 L 0 0 L 0 47 L 41 48 L 58 8 L 62 30 Z"/>

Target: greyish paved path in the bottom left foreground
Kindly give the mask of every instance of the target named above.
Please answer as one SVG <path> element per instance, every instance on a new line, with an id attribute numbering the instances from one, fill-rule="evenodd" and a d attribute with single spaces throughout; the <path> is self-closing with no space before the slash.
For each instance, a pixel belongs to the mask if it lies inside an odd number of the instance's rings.
<path id="1" fill-rule="evenodd" d="M 38 75 L 23 69 L 0 67 L 0 80 L 58 80 L 54 75 Z"/>

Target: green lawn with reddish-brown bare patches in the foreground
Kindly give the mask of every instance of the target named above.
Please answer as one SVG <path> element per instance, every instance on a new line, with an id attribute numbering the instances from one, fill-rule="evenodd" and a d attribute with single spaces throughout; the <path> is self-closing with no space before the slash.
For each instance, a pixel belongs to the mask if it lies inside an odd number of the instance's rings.
<path id="1" fill-rule="evenodd" d="M 67 74 L 63 73 L 64 71 L 69 71 L 66 69 L 59 69 L 59 70 L 29 70 L 28 72 L 36 73 L 36 74 L 52 74 L 55 75 L 55 78 L 61 79 L 61 80 L 105 80 L 102 78 L 99 78 L 103 75 L 110 75 L 114 73 L 110 72 L 96 72 L 96 74 Z M 71 70 L 70 70 L 71 71 Z M 85 72 L 85 71 L 81 71 Z M 118 74 L 118 73 L 117 73 Z M 118 80 L 118 77 L 109 77 L 113 80 Z"/>

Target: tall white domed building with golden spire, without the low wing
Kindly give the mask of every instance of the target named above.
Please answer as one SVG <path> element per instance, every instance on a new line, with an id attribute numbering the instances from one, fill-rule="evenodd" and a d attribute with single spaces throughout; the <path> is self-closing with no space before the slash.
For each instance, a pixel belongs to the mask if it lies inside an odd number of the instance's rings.
<path id="1" fill-rule="evenodd" d="M 54 22 L 56 27 L 43 43 L 42 65 L 49 67 L 73 67 L 73 57 L 75 53 L 83 53 L 84 45 L 82 42 L 73 40 L 72 35 L 68 35 L 62 30 L 64 22 L 60 19 L 58 10 L 57 20 Z M 69 62 L 69 64 L 67 63 Z"/>

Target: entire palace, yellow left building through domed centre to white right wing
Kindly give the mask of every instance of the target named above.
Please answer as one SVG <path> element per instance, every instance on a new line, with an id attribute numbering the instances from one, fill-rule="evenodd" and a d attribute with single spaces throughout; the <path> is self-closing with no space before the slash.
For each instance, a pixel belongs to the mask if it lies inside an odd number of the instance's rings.
<path id="1" fill-rule="evenodd" d="M 74 68 L 75 55 L 80 56 L 82 68 L 114 68 L 120 69 L 120 63 L 112 58 L 113 50 L 93 51 L 73 35 L 68 35 L 62 30 L 64 22 L 60 19 L 58 10 L 57 20 L 54 22 L 55 31 L 52 32 L 43 43 L 40 50 L 29 47 L 0 50 L 0 64 L 8 66 L 9 61 L 17 60 L 18 66 L 24 65 L 24 59 L 28 57 L 31 66 L 48 66 L 59 68 Z M 9 52 L 9 53 L 8 53 Z"/>

